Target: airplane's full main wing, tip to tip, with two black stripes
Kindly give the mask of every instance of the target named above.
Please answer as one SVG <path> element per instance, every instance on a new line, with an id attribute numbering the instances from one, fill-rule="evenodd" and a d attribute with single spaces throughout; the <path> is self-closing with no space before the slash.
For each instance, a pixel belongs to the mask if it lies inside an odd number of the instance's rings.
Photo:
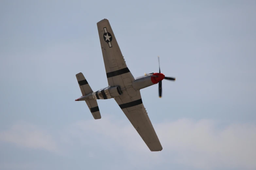
<path id="1" fill-rule="evenodd" d="M 120 86 L 122 95 L 115 101 L 125 113 L 128 120 L 142 137 L 151 151 L 162 150 L 162 145 L 142 103 L 141 93 L 134 90 L 134 77 L 129 71 L 115 35 L 107 19 L 97 23 L 100 45 L 110 86 Z"/>

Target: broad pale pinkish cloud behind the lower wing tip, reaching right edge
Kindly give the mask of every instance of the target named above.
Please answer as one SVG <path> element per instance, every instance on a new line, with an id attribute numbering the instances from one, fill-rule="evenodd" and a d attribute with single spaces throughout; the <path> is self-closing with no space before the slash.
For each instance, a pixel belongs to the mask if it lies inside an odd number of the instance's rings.
<path id="1" fill-rule="evenodd" d="M 70 133 L 80 143 L 88 142 L 88 135 L 92 135 L 101 142 L 90 143 L 91 146 L 114 143 L 114 146 L 125 148 L 126 153 L 130 153 L 127 159 L 135 163 L 136 167 L 143 164 L 151 167 L 150 162 L 155 163 L 157 160 L 166 166 L 179 164 L 195 169 L 256 168 L 254 124 L 233 123 L 223 126 L 212 120 L 181 119 L 153 126 L 163 146 L 161 152 L 150 152 L 128 120 L 111 121 L 104 117 L 99 121 L 79 121 L 72 125 Z"/>

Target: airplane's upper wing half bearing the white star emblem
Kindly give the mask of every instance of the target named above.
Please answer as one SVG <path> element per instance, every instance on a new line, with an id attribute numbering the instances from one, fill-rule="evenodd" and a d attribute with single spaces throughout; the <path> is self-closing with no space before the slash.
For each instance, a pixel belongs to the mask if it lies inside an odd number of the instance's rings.
<path id="1" fill-rule="evenodd" d="M 128 69 L 109 20 L 97 23 L 100 45 L 110 86 L 129 87 L 134 77 Z"/>

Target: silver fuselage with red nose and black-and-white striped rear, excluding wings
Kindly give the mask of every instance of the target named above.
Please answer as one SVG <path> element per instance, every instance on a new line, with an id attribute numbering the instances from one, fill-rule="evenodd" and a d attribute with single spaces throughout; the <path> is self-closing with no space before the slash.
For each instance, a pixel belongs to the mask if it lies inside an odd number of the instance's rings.
<path id="1" fill-rule="evenodd" d="M 164 78 L 164 74 L 162 73 L 151 73 L 149 75 L 137 77 L 132 82 L 132 87 L 134 90 L 141 90 L 146 87 L 157 84 Z M 108 86 L 106 88 L 100 89 L 98 91 L 94 91 L 88 95 L 81 96 L 76 101 L 84 101 L 84 100 L 97 100 L 97 99 L 111 99 L 117 96 L 122 95 L 122 91 L 119 86 Z"/>

